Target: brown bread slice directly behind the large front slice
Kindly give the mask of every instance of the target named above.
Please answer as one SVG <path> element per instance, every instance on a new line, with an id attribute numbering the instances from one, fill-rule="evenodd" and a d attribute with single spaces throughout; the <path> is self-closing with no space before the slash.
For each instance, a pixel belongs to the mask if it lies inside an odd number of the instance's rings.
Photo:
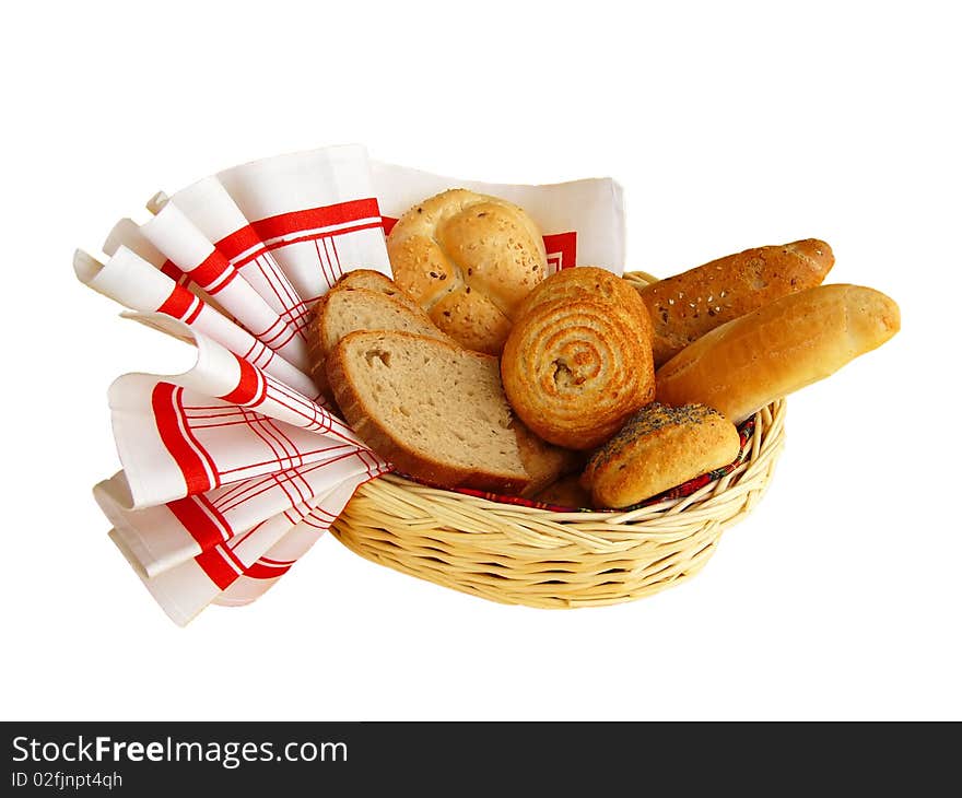
<path id="1" fill-rule="evenodd" d="M 353 280 L 344 278 L 320 298 L 315 308 L 308 332 L 310 376 L 318 389 L 328 398 L 330 388 L 325 373 L 325 360 L 331 349 L 344 336 L 356 330 L 406 330 L 430 338 L 450 340 L 417 303 L 378 272 L 349 272 L 357 274 Z M 372 280 L 374 275 L 379 280 Z M 375 287 L 361 287 L 374 285 Z"/>

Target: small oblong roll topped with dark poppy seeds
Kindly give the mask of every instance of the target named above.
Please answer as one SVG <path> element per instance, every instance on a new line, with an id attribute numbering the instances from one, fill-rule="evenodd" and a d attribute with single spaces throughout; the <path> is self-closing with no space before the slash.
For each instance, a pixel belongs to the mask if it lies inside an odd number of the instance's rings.
<path id="1" fill-rule="evenodd" d="M 657 402 L 631 416 L 585 468 L 596 507 L 627 507 L 738 457 L 738 430 L 703 404 Z"/>

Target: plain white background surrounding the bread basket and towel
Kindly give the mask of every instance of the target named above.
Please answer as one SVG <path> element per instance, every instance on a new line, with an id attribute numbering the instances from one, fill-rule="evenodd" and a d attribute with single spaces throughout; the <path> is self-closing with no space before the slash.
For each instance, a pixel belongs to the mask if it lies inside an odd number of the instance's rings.
<path id="1" fill-rule="evenodd" d="M 0 716 L 962 718 L 951 4 L 333 5 L 4 11 Z M 106 388 L 163 372 L 162 340 L 73 249 L 157 189 L 348 142 L 466 178 L 614 176 L 629 267 L 660 274 L 822 237 L 830 281 L 892 295 L 903 330 L 793 397 L 770 493 L 653 598 L 504 607 L 327 537 L 177 629 L 90 495 L 118 466 Z"/>

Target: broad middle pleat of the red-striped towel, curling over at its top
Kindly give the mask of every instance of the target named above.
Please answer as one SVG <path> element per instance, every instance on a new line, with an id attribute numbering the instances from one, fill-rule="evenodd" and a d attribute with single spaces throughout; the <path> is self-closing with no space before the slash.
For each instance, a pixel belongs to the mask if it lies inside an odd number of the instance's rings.
<path id="1" fill-rule="evenodd" d="M 181 374 L 126 374 L 107 391 L 131 508 L 364 448 L 342 419 L 186 325 Z M 189 345 L 185 343 L 185 345 Z"/>

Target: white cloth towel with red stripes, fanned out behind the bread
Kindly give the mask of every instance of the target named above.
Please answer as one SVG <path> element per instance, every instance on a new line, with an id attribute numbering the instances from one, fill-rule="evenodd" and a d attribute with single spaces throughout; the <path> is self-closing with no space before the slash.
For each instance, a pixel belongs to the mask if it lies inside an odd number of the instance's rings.
<path id="1" fill-rule="evenodd" d="M 552 269 L 624 266 L 611 179 L 518 186 L 372 164 L 336 146 L 243 164 L 121 220 L 107 257 L 74 270 L 139 321 L 196 348 L 175 375 L 125 375 L 108 399 L 122 470 L 95 496 L 110 538 L 167 614 L 262 595 L 390 470 L 333 415 L 310 379 L 314 303 L 345 272 L 390 274 L 385 230 L 410 206 L 465 187 L 524 207 Z"/>

